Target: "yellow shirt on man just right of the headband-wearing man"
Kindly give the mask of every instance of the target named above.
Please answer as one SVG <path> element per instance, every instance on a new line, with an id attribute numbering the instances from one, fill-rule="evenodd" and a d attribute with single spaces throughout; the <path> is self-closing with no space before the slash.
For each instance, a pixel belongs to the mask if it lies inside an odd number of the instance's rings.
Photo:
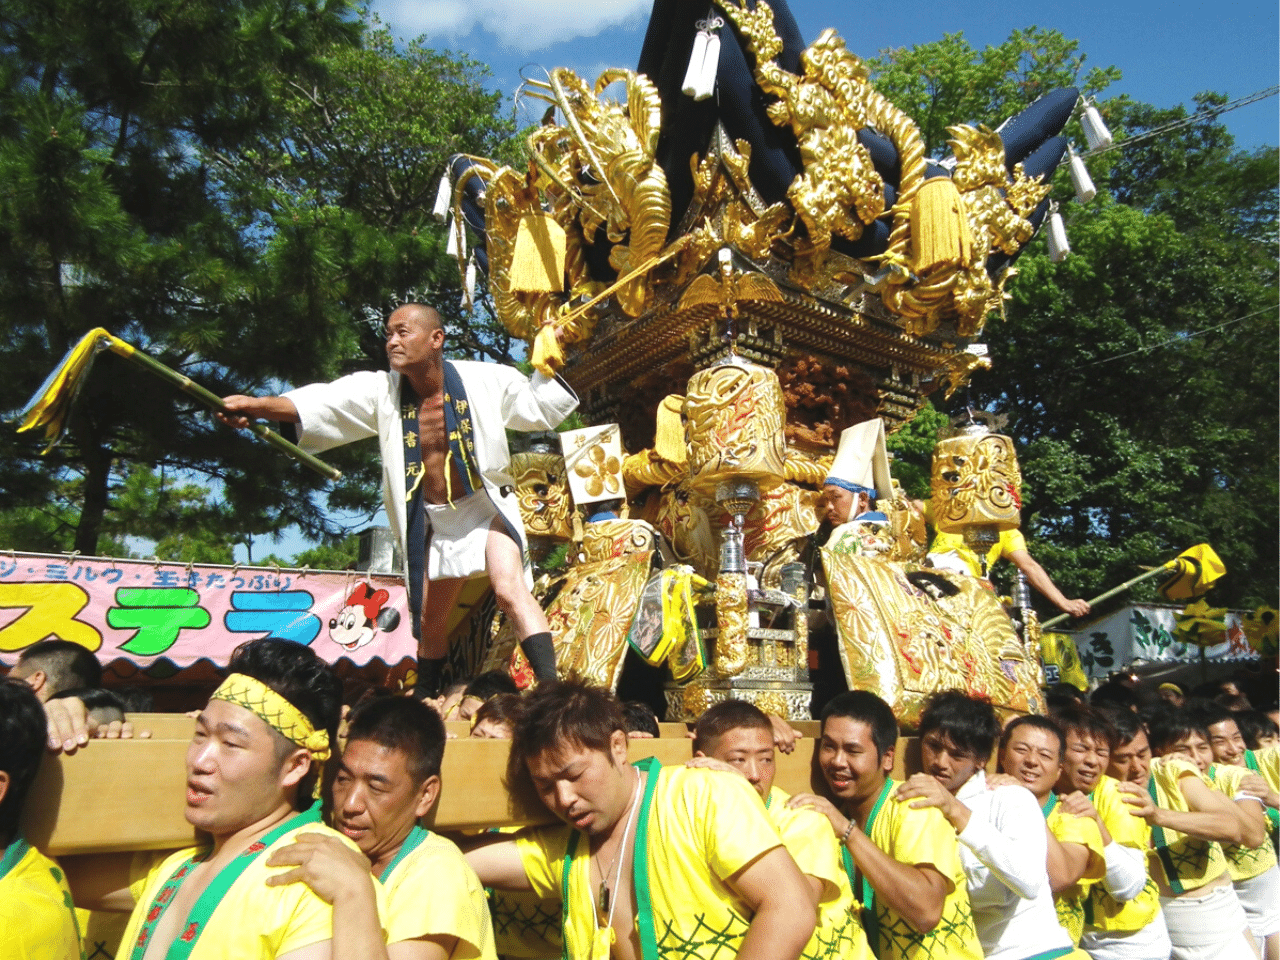
<path id="1" fill-rule="evenodd" d="M 449 960 L 497 960 L 484 887 L 462 851 L 421 827 L 404 847 L 381 881 L 387 942 L 456 937 Z"/>

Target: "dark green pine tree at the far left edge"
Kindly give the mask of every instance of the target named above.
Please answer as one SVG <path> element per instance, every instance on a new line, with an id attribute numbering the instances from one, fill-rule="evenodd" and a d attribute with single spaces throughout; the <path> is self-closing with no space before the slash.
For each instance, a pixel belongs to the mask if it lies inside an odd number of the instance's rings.
<path id="1" fill-rule="evenodd" d="M 353 42 L 346 0 L 14 0 L 0 13 L 0 338 L 22 402 L 81 337 L 105 326 L 193 379 L 216 383 L 252 349 L 256 264 L 205 154 L 278 122 L 280 78 L 316 70 L 319 45 Z M 35 457 L 5 431 L 6 506 L 79 480 L 74 548 L 93 553 L 125 461 L 216 474 L 253 457 L 169 388 L 99 364 L 72 442 Z M 270 470 L 270 467 L 268 467 Z M 247 486 L 224 477 L 228 504 Z M 278 477 L 278 493 L 289 481 Z M 289 503 L 312 525 L 306 495 Z M 248 515 L 260 509 L 247 511 Z"/>

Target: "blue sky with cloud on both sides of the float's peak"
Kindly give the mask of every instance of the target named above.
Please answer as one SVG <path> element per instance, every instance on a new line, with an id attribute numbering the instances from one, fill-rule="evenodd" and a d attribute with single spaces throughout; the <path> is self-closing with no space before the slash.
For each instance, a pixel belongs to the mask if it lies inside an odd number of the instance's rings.
<path id="1" fill-rule="evenodd" d="M 1000 44 L 1020 27 L 1061 31 L 1080 41 L 1085 67 L 1115 65 L 1124 79 L 1108 93 L 1174 106 L 1202 91 L 1230 100 L 1276 83 L 1280 61 L 1276 0 L 1060 0 L 1039 8 L 995 0 L 966 4 L 900 0 L 884 6 L 792 0 L 812 42 L 835 27 L 849 49 L 873 56 L 963 32 L 975 47 Z M 650 0 L 374 0 L 374 12 L 398 37 L 426 37 L 429 46 L 463 51 L 486 63 L 493 86 L 508 96 L 525 68 L 570 67 L 591 79 L 604 67 L 634 67 Z M 524 120 L 540 116 L 531 106 Z M 1238 146 L 1271 146 L 1277 137 L 1277 99 L 1224 116 Z"/>

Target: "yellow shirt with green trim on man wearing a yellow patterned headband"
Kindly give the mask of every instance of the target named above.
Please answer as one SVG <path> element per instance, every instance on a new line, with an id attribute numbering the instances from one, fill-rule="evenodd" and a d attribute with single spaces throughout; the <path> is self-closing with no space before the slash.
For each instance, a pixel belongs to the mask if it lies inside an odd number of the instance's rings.
<path id="1" fill-rule="evenodd" d="M 306 883 L 266 886 L 274 873 L 289 867 L 268 867 L 271 852 L 288 846 L 300 833 L 338 837 L 356 850 L 344 835 L 321 823 L 305 823 L 285 831 L 265 847 L 232 884 L 205 924 L 191 960 L 274 960 L 280 954 L 333 938 L 333 908 Z M 174 870 L 198 847 L 173 854 L 142 854 L 134 858 L 134 882 L 129 886 L 136 906 L 120 941 L 118 956 L 131 956 L 152 901 Z M 376 887 L 376 884 L 375 884 Z M 381 891 L 378 891 L 381 913 Z M 180 929 L 180 928 L 179 928 Z"/>

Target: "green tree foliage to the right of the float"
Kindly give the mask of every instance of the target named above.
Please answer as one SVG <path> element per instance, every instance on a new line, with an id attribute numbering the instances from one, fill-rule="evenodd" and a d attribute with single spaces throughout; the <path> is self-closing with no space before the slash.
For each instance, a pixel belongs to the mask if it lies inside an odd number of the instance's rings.
<path id="1" fill-rule="evenodd" d="M 1083 63 L 1056 33 L 1019 31 L 982 52 L 948 36 L 883 58 L 876 83 L 925 118 L 937 150 L 947 124 L 995 125 L 1052 86 L 1101 93 L 1119 77 L 1082 77 Z M 1222 102 L 1204 93 L 1190 113 Z M 1100 108 L 1119 148 L 1088 161 L 1097 200 L 1075 202 L 1065 169 L 1055 180 L 1070 256 L 1052 264 L 1033 242 L 1007 321 L 984 332 L 993 369 L 940 406 L 1009 415 L 1023 526 L 1068 595 L 1208 541 L 1229 571 L 1217 603 L 1275 604 L 1277 151 L 1236 151 L 1215 118 L 1142 140 L 1189 111 Z M 1075 122 L 1068 134 L 1083 146 Z"/>

